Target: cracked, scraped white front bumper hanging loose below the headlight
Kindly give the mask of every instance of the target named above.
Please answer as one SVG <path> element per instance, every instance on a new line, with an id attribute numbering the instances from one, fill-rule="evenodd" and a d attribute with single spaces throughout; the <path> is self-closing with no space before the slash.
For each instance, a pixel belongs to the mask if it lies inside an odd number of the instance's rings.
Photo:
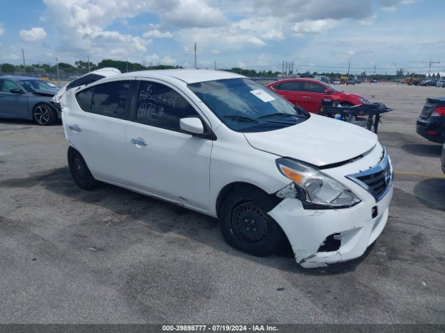
<path id="1" fill-rule="evenodd" d="M 385 228 L 392 194 L 391 187 L 378 203 L 339 210 L 304 210 L 300 200 L 286 198 L 268 214 L 284 230 L 298 264 L 322 267 L 364 254 Z"/>

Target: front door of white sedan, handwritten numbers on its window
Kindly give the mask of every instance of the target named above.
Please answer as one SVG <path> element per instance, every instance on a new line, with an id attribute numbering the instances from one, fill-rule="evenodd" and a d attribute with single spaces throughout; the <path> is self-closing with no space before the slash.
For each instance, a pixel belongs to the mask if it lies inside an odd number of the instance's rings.
<path id="1" fill-rule="evenodd" d="M 179 119 L 203 117 L 172 85 L 140 80 L 125 139 L 129 185 L 209 210 L 210 139 L 182 133 Z"/>

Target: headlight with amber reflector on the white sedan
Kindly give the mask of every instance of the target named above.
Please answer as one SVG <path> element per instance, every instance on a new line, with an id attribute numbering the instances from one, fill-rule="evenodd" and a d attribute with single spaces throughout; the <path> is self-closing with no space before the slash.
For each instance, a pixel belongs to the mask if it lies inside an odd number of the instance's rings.
<path id="1" fill-rule="evenodd" d="M 277 192 L 280 198 L 299 198 L 303 205 L 314 209 L 352 207 L 360 202 L 353 191 L 314 167 L 289 158 L 276 162 L 280 172 L 292 180 Z"/>

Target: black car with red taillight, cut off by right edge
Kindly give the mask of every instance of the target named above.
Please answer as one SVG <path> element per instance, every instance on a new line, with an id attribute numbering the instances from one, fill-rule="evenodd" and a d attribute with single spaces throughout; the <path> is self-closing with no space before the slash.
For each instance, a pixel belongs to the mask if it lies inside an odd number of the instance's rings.
<path id="1" fill-rule="evenodd" d="M 445 142 L 445 96 L 426 99 L 417 118 L 416 132 L 431 142 Z"/>

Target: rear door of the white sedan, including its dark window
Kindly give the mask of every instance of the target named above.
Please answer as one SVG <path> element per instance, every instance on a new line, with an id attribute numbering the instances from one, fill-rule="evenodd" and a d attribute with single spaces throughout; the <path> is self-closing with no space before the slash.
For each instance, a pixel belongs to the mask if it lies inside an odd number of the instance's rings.
<path id="1" fill-rule="evenodd" d="M 63 112 L 65 133 L 98 180 L 126 184 L 125 130 L 135 80 L 113 80 L 76 93 L 80 109 Z"/>

